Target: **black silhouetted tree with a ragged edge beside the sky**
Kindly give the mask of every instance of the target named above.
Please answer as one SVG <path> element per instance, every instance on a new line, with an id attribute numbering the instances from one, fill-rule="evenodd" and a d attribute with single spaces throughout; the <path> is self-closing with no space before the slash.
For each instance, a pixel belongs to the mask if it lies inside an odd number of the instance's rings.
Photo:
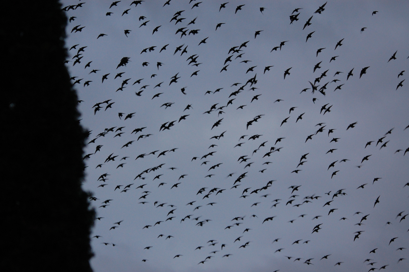
<path id="1" fill-rule="evenodd" d="M 57 0 L 6 1 L 2 52 L 2 271 L 92 271 L 94 210 L 81 189 L 84 140 L 64 66 Z"/>

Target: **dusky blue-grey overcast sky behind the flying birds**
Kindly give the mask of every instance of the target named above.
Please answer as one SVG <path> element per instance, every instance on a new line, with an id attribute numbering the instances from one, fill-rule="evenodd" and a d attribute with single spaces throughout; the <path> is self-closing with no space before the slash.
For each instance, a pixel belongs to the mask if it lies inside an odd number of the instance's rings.
<path id="1" fill-rule="evenodd" d="M 92 130 L 87 143 L 94 139 L 85 148 L 84 155 L 92 155 L 84 160 L 83 183 L 97 198 L 90 201 L 100 217 L 92 232 L 102 236 L 92 238 L 94 271 L 368 271 L 384 265 L 408 271 L 409 249 L 398 249 L 409 248 L 409 216 L 402 219 L 409 213 L 409 82 L 403 81 L 409 3 L 328 1 L 315 13 L 325 1 L 229 1 L 221 9 L 224 1 L 165 2 L 135 7 L 122 0 L 110 8 L 110 1 L 86 1 L 67 8 L 67 17 L 74 16 L 67 50 L 77 45 L 68 51 L 67 68 L 76 77 L 72 83 L 81 79 L 74 84 L 81 125 Z M 185 19 L 175 25 L 179 18 Z M 185 36 L 175 34 L 180 28 L 188 29 Z M 232 47 L 237 51 L 229 52 Z M 117 67 L 124 57 L 128 63 Z M 106 108 L 107 100 L 115 103 Z M 162 124 L 169 129 L 160 131 Z M 136 128 L 144 129 L 132 133 Z M 260 136 L 249 139 L 253 135 Z M 117 157 L 105 162 L 110 154 Z"/>

